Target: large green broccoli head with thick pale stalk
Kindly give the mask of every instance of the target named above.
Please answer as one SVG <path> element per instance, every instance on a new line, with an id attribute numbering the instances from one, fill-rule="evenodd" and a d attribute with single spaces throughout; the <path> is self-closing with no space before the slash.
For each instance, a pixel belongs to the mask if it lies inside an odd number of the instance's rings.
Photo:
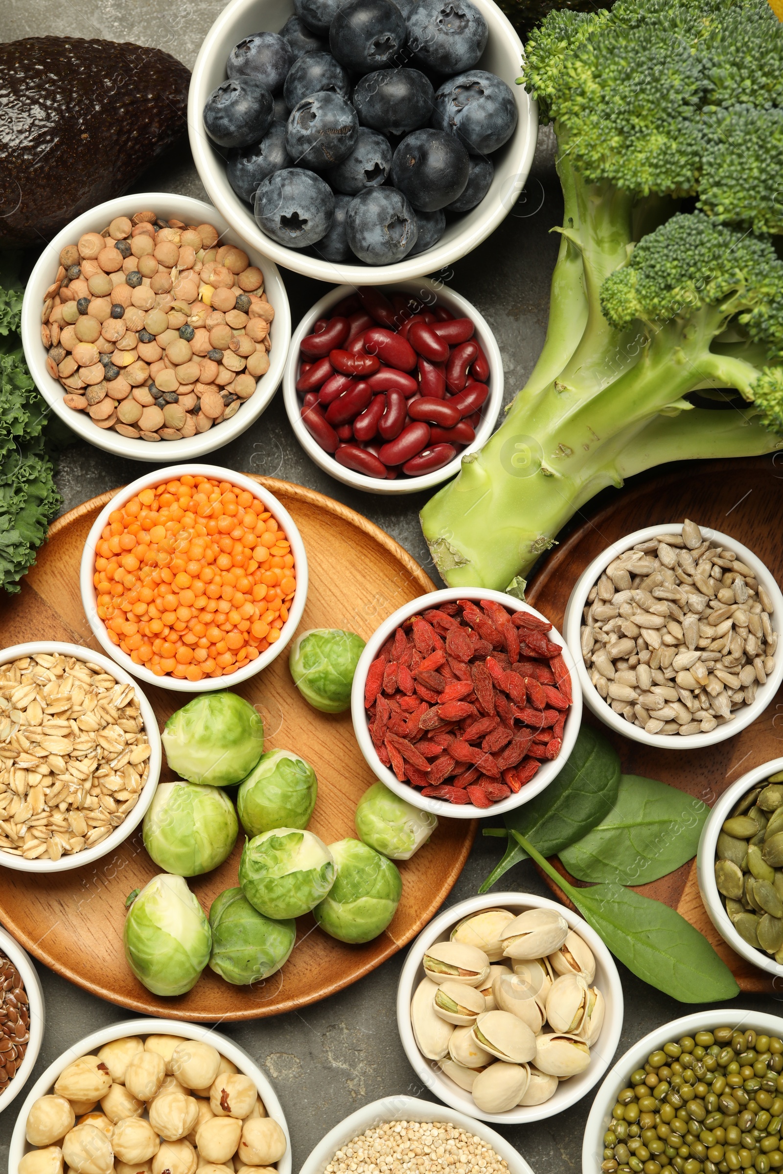
<path id="1" fill-rule="evenodd" d="M 421 512 L 450 586 L 504 589 L 642 470 L 783 446 L 781 79 L 767 0 L 617 0 L 531 36 L 565 198 L 552 309 L 506 423 Z"/>

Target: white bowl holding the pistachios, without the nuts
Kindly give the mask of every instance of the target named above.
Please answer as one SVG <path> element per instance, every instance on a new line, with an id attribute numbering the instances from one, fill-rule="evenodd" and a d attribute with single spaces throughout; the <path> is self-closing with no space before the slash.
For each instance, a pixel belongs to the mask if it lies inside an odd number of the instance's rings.
<path id="1" fill-rule="evenodd" d="M 452 929 L 459 922 L 474 913 L 480 913 L 484 909 L 508 909 L 513 913 L 524 913 L 527 909 L 554 909 L 561 913 L 569 927 L 575 930 L 593 951 L 595 956 L 595 986 L 606 1003 L 603 1027 L 598 1041 L 590 1048 L 590 1066 L 578 1077 L 562 1080 L 554 1097 L 545 1101 L 544 1105 L 518 1105 L 515 1108 L 506 1109 L 505 1113 L 482 1113 L 470 1092 L 445 1077 L 436 1060 L 427 1060 L 419 1052 L 411 1026 L 411 999 L 425 977 L 421 966 L 424 954 L 436 942 L 447 940 Z M 532 1121 L 544 1121 L 546 1118 L 556 1116 L 581 1100 L 598 1084 L 612 1062 L 622 1033 L 622 984 L 617 967 L 598 933 L 589 927 L 587 922 L 582 920 L 579 913 L 573 913 L 569 909 L 549 900 L 547 897 L 536 897 L 527 892 L 493 892 L 486 897 L 471 897 L 468 900 L 461 900 L 458 905 L 452 905 L 451 909 L 439 913 L 426 929 L 421 930 L 409 950 L 397 987 L 397 1028 L 405 1054 L 419 1080 L 430 1092 L 439 1097 L 446 1105 L 451 1105 L 452 1108 L 466 1113 L 470 1118 L 495 1121 L 498 1125 L 528 1125 Z"/>

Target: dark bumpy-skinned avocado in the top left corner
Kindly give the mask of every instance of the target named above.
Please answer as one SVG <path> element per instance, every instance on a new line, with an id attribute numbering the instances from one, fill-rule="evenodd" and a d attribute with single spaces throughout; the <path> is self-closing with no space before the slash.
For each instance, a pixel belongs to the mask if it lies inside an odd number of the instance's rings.
<path id="1" fill-rule="evenodd" d="M 0 45 L 0 248 L 41 247 L 185 131 L 190 73 L 161 49 L 72 36 Z"/>

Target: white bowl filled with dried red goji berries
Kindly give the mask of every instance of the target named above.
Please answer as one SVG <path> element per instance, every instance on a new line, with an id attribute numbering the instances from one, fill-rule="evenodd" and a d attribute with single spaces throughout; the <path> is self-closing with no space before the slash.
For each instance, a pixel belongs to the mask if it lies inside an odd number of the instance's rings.
<path id="1" fill-rule="evenodd" d="M 390 790 L 434 815 L 502 815 L 539 795 L 582 716 L 559 632 L 497 591 L 411 600 L 370 637 L 351 694 L 362 753 Z"/>

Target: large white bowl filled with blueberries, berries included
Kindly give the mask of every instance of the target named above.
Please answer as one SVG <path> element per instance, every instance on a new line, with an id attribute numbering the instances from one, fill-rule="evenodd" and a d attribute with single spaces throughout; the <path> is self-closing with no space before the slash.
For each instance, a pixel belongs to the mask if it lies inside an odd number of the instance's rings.
<path id="1" fill-rule="evenodd" d="M 210 198 L 278 264 L 325 282 L 432 274 L 525 187 L 535 103 L 493 0 L 232 0 L 188 103 Z"/>

